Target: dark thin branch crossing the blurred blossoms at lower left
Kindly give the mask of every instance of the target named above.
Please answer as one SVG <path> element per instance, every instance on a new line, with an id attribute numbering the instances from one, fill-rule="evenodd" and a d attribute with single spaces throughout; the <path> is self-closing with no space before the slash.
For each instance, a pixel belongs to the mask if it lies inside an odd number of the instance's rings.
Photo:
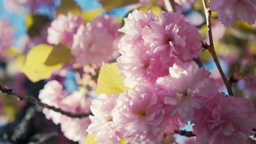
<path id="1" fill-rule="evenodd" d="M 2 93 L 5 93 L 7 95 L 12 95 L 13 97 L 15 97 L 16 99 L 18 100 L 27 100 L 27 101 L 30 101 L 31 103 L 34 103 L 34 104 L 38 104 L 42 107 L 45 107 L 47 109 L 50 109 L 50 110 L 53 110 L 55 112 L 59 112 L 61 113 L 62 115 L 66 115 L 68 117 L 72 117 L 72 118 L 83 118 L 83 117 L 88 117 L 89 115 L 92 115 L 92 113 L 78 113 L 78 114 L 75 114 L 75 113 L 71 113 L 71 112 L 67 112 L 67 111 L 63 111 L 59 108 L 56 108 L 54 106 L 50 106 L 48 104 L 44 104 L 42 103 L 42 101 L 32 97 L 32 96 L 24 96 L 24 95 L 20 95 L 18 93 L 15 93 L 13 92 L 13 89 L 10 89 L 10 88 L 7 88 L 7 87 L 2 87 L 0 85 L 0 91 Z"/>

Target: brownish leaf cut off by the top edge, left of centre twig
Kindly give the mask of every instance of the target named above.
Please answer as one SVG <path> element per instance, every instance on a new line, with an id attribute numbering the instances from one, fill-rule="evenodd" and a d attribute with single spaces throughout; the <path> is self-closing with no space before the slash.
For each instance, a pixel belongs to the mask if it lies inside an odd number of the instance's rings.
<path id="1" fill-rule="evenodd" d="M 117 0 L 117 1 L 113 1 L 113 0 L 100 0 L 99 2 L 101 3 L 102 8 L 104 10 L 110 10 L 110 9 L 114 9 L 114 8 L 123 7 L 125 5 L 139 3 L 138 0 Z"/>

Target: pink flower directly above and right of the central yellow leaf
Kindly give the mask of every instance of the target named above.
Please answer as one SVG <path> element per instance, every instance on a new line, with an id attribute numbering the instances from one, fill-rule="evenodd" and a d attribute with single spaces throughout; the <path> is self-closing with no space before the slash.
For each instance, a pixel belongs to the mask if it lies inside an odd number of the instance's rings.
<path id="1" fill-rule="evenodd" d="M 117 58 L 120 73 L 124 74 L 124 82 L 128 87 L 137 83 L 152 83 L 160 76 L 168 75 L 168 68 L 172 63 L 161 64 L 158 55 L 149 55 L 147 46 L 125 45 L 119 42 L 121 56 Z M 174 59 L 173 59 L 174 61 Z"/>

